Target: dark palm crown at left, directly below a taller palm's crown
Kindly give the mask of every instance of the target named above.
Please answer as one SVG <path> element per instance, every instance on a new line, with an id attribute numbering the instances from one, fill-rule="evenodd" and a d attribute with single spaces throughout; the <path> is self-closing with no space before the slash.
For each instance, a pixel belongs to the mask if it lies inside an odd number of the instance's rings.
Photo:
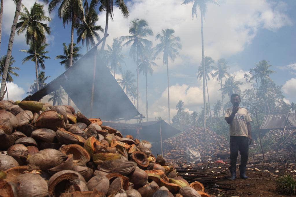
<path id="1" fill-rule="evenodd" d="M 29 43 L 30 48 L 29 49 L 22 49 L 20 51 L 30 54 L 29 56 L 22 59 L 22 64 L 24 64 L 27 61 L 33 61 L 36 62 L 35 56 L 37 57 L 37 68 L 38 73 L 40 73 L 40 67 L 41 69 L 45 69 L 45 59 L 50 59 L 49 56 L 46 56 L 46 53 L 49 53 L 49 51 L 45 51 L 45 48 L 49 46 L 47 43 L 40 43 L 35 42 L 35 46 L 33 45 L 33 42 Z M 36 54 L 35 54 L 36 53 Z"/>

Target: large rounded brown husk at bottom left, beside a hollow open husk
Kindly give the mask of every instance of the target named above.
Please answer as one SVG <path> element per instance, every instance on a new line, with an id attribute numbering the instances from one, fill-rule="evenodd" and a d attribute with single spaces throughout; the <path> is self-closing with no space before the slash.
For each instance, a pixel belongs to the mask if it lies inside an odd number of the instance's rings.
<path id="1" fill-rule="evenodd" d="M 22 174 L 16 177 L 18 197 L 25 196 L 48 196 L 48 186 L 46 181 L 38 174 Z"/>

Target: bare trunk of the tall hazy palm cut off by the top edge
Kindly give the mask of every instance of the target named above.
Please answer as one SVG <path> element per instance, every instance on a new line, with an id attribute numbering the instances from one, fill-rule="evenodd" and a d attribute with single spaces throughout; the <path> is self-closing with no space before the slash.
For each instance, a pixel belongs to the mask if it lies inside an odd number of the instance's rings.
<path id="1" fill-rule="evenodd" d="M 203 43 L 203 11 L 200 10 L 200 18 L 202 22 L 201 26 L 201 34 L 202 34 L 202 90 L 203 90 L 203 101 L 204 101 L 204 112 L 203 112 L 203 126 L 205 131 L 206 124 L 206 99 L 205 99 L 205 51 L 204 51 L 204 43 Z"/>

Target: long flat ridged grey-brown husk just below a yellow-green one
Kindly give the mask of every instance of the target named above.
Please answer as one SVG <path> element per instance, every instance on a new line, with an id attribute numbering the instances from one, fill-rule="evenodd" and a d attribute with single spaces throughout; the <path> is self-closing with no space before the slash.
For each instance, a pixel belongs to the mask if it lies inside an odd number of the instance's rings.
<path id="1" fill-rule="evenodd" d="M 136 166 L 136 162 L 115 159 L 99 162 L 98 170 L 107 173 L 119 173 L 121 175 L 129 175 L 136 169 Z"/>

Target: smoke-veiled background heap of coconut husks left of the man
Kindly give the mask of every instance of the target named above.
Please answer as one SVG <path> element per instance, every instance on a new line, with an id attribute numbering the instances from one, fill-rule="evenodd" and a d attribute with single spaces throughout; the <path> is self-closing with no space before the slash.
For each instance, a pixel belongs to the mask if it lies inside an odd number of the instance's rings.
<path id="1" fill-rule="evenodd" d="M 229 142 L 223 137 L 201 127 L 191 127 L 180 134 L 163 141 L 163 154 L 166 159 L 186 164 L 186 148 L 196 148 L 202 157 L 230 154 Z"/>

